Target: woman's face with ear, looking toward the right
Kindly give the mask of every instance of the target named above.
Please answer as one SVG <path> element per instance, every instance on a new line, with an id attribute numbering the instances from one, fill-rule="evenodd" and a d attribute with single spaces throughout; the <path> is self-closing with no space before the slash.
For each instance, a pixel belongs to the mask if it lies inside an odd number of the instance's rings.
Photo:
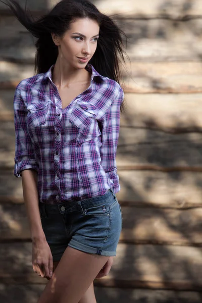
<path id="1" fill-rule="evenodd" d="M 88 18 L 76 19 L 62 37 L 52 34 L 59 56 L 69 66 L 84 68 L 97 47 L 99 25 Z M 79 59 L 84 58 L 85 60 Z"/>

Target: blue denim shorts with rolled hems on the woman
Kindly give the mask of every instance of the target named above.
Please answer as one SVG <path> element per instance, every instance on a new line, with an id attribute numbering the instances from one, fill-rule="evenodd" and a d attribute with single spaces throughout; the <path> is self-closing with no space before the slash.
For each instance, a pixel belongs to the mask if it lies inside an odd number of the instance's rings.
<path id="1" fill-rule="evenodd" d="M 102 256 L 116 256 L 122 230 L 122 212 L 112 189 L 106 194 L 59 205 L 39 202 L 42 228 L 53 261 L 67 248 Z"/>

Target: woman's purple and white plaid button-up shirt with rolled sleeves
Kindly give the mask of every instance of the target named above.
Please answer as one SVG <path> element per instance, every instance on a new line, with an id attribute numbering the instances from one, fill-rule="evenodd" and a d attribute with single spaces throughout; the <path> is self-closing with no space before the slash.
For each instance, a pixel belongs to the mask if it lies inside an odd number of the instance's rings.
<path id="1" fill-rule="evenodd" d="M 83 200 L 120 190 L 116 151 L 124 92 L 92 65 L 90 86 L 62 109 L 52 65 L 22 80 L 14 96 L 14 175 L 38 172 L 42 203 Z"/>

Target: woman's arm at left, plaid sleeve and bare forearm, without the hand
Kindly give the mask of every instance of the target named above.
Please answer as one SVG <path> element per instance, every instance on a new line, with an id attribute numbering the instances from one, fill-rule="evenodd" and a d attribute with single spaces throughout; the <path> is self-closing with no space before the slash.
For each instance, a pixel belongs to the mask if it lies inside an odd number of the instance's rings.
<path id="1" fill-rule="evenodd" d="M 14 124 L 16 133 L 15 169 L 16 177 L 22 176 L 23 197 L 30 224 L 31 239 L 44 239 L 38 207 L 37 170 L 34 148 L 27 132 L 27 110 L 17 86 L 14 96 Z"/>

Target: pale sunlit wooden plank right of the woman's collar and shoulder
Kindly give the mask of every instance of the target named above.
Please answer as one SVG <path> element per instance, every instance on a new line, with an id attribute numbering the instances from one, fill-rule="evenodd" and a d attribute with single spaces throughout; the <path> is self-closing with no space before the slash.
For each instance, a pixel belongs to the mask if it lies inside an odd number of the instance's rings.
<path id="1" fill-rule="evenodd" d="M 129 70 L 128 64 L 128 70 Z M 196 62 L 133 62 L 124 90 L 134 93 L 202 92 L 202 64 Z"/>

